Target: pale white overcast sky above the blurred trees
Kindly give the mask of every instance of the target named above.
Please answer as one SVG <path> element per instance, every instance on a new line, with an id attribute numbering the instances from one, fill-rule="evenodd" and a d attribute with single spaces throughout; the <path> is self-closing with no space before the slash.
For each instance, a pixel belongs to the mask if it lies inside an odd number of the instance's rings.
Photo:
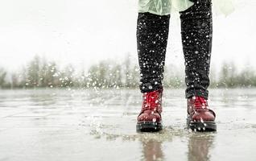
<path id="1" fill-rule="evenodd" d="M 237 2 L 227 17 L 213 10 L 215 66 L 255 64 L 256 2 Z M 128 52 L 137 58 L 136 21 L 137 0 L 0 0 L 0 66 L 17 70 L 35 55 L 77 68 Z M 183 65 L 177 13 L 169 38 L 167 64 Z"/>

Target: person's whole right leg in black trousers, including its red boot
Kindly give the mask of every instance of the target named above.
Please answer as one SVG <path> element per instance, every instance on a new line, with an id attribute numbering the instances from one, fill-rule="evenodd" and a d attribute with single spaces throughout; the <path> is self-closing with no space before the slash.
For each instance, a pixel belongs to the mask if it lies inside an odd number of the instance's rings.
<path id="1" fill-rule="evenodd" d="M 212 52 L 213 19 L 211 0 L 193 0 L 194 5 L 180 12 L 188 98 L 188 127 L 215 131 L 216 114 L 207 102 Z"/>

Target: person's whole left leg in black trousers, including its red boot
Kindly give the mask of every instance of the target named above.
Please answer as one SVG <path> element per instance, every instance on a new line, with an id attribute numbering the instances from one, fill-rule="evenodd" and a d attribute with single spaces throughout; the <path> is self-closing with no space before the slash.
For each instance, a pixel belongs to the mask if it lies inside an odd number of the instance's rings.
<path id="1" fill-rule="evenodd" d="M 163 66 L 167 48 L 170 15 L 138 14 L 137 42 L 140 67 L 142 110 L 137 131 L 162 130 Z"/>

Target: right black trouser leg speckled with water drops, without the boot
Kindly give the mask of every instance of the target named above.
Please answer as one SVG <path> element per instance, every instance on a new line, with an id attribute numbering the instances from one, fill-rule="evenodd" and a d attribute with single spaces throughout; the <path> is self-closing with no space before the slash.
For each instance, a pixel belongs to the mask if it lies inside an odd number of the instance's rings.
<path id="1" fill-rule="evenodd" d="M 193 2 L 194 5 L 188 10 L 180 12 L 186 97 L 201 96 L 208 99 L 213 37 L 212 2 L 211 0 L 193 0 Z"/>

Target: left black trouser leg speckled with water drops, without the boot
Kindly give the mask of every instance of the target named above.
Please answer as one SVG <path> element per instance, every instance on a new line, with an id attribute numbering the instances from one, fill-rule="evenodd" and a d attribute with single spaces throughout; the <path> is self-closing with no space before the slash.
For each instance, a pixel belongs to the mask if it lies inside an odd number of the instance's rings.
<path id="1" fill-rule="evenodd" d="M 137 45 L 142 93 L 163 88 L 170 15 L 138 13 Z"/>

